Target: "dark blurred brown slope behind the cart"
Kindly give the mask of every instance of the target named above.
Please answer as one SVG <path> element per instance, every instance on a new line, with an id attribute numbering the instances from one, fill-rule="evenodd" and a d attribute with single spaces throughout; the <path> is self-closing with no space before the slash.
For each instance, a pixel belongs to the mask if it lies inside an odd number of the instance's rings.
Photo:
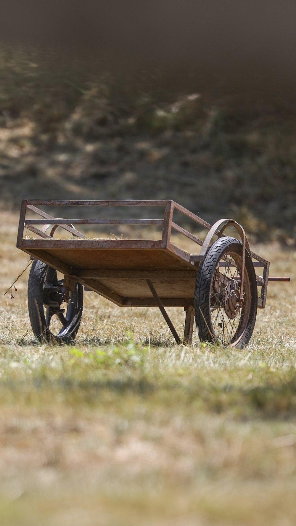
<path id="1" fill-rule="evenodd" d="M 0 207 L 171 198 L 296 242 L 296 4 L 2 0 Z"/>

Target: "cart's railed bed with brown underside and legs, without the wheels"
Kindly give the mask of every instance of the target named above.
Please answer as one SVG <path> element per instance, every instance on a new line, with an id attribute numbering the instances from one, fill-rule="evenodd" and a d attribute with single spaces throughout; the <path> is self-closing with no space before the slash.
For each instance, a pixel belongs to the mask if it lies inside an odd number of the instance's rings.
<path id="1" fill-rule="evenodd" d="M 160 219 L 101 219 L 71 218 L 71 209 L 77 207 L 158 207 Z M 40 208 L 41 207 L 41 208 Z M 63 207 L 67 217 L 56 218 L 48 214 L 50 207 Z M 193 229 L 205 231 L 201 240 L 174 221 L 180 213 Z M 93 215 L 93 214 L 92 214 Z M 93 290 L 119 306 L 158 306 L 167 323 L 170 320 L 164 307 L 184 307 L 186 311 L 185 336 L 191 341 L 193 326 L 193 298 L 196 275 L 213 235 L 222 235 L 218 226 L 232 223 L 249 249 L 245 234 L 234 220 L 222 219 L 213 227 L 200 217 L 172 200 L 156 201 L 78 201 L 78 200 L 24 200 L 17 237 L 17 247 L 32 258 L 64 274 L 66 289 L 77 281 L 85 289 Z M 84 225 L 80 231 L 80 225 Z M 105 239 L 87 237 L 85 228 L 93 226 L 136 225 L 161 228 L 160 239 Z M 61 227 L 67 238 L 54 237 Z M 117 228 L 116 227 L 116 228 Z M 173 244 L 172 230 L 179 232 L 193 243 L 193 253 Z M 144 230 L 144 232 L 146 229 Z M 29 234 L 29 236 L 28 236 Z M 63 234 L 63 235 L 64 235 Z M 88 234 L 87 234 L 88 235 Z M 97 236 L 97 233 L 95 234 Z M 201 236 L 203 237 L 203 236 Z M 268 284 L 269 262 L 250 251 L 254 267 L 262 267 L 256 276 L 259 286 L 258 307 L 264 308 Z M 221 265 L 221 263 L 220 263 Z M 223 265 L 223 262 L 222 262 Z M 173 328 L 170 326 L 172 332 Z M 186 332 L 187 330 L 187 332 Z M 174 332 L 173 332 L 174 333 Z M 179 339 L 176 334 L 175 338 Z"/>

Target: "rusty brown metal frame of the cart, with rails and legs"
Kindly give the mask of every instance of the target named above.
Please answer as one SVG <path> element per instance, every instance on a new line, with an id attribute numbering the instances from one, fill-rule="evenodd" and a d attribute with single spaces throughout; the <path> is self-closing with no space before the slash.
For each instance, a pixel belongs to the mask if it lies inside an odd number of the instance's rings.
<path id="1" fill-rule="evenodd" d="M 55 218 L 41 210 L 38 207 L 50 207 L 50 206 L 96 206 L 96 207 L 121 207 L 121 206 L 140 206 L 140 207 L 164 207 L 164 215 L 162 219 L 74 219 L 74 218 Z M 35 214 L 35 218 L 27 219 L 27 210 Z M 185 228 L 176 224 L 173 221 L 174 211 L 181 212 L 184 216 L 194 221 L 197 225 L 208 230 L 208 234 L 205 236 L 205 240 L 202 241 Z M 38 216 L 38 217 L 36 217 Z M 139 225 L 139 226 L 162 226 L 162 235 L 160 240 L 118 240 L 118 239 L 90 239 L 86 238 L 83 232 L 76 229 L 76 225 Z M 222 226 L 223 225 L 223 226 Z M 253 261 L 254 267 L 262 267 L 262 276 L 256 276 L 257 285 L 261 287 L 260 297 L 258 297 L 258 307 L 265 307 L 265 300 L 267 295 L 267 285 L 269 281 L 269 262 L 254 252 L 251 252 L 249 242 L 246 239 L 242 226 L 234 221 L 233 219 L 220 219 L 213 226 L 208 222 L 204 221 L 199 216 L 196 216 L 191 211 L 187 210 L 183 206 L 175 203 L 173 200 L 125 200 L 125 201 L 94 201 L 94 200 L 23 200 L 21 205 L 21 212 L 19 216 L 18 234 L 17 234 L 17 247 L 27 252 L 29 255 L 34 257 L 35 249 L 38 248 L 38 258 L 42 259 L 46 264 L 55 267 L 57 270 L 63 272 L 66 276 L 66 280 L 76 280 L 84 285 L 88 290 L 94 290 L 98 294 L 110 299 L 115 304 L 120 306 L 127 305 L 143 305 L 143 306 L 159 306 L 166 319 L 176 341 L 180 342 L 181 339 L 177 335 L 170 318 L 167 316 L 164 307 L 165 306 L 183 306 L 186 312 L 185 329 L 184 329 L 184 342 L 191 342 L 192 330 L 193 330 L 193 298 L 160 298 L 157 295 L 155 287 L 153 285 L 153 279 L 161 279 L 170 276 L 170 279 L 181 279 L 183 271 L 167 269 L 167 270 L 87 270 L 77 269 L 71 264 L 67 264 L 65 261 L 58 260 L 51 254 L 46 252 L 46 248 L 65 248 L 75 250 L 84 249 L 108 249 L 114 248 L 117 250 L 121 249 L 165 249 L 169 250 L 175 257 L 176 260 L 182 261 L 188 265 L 187 269 L 192 273 L 192 277 L 195 277 L 199 268 L 200 262 L 203 260 L 206 250 L 208 250 L 212 238 L 214 235 L 221 237 L 225 228 L 232 225 L 238 231 L 242 242 L 243 242 L 243 261 L 242 261 L 242 274 L 244 273 L 244 255 L 245 249 L 250 252 L 250 255 L 255 261 Z M 39 226 L 40 228 L 37 228 Z M 52 226 L 50 235 L 46 233 L 46 230 Z M 67 234 L 72 234 L 70 239 L 56 239 L 53 238 L 54 232 L 57 227 L 64 229 Z M 37 235 L 36 239 L 24 239 L 24 228 L 32 231 Z M 176 247 L 171 242 L 172 230 L 179 232 L 191 241 L 195 242 L 196 245 L 201 247 L 200 254 L 189 254 L 184 250 Z M 145 279 L 147 285 L 152 293 L 152 298 L 124 298 L 116 292 L 112 291 L 105 285 L 98 282 L 98 279 L 112 278 L 141 278 Z M 242 281 L 243 281 L 242 276 Z M 270 280 L 275 278 L 270 278 Z M 279 278 L 286 280 L 287 278 Z M 243 287 L 241 287 L 242 292 Z M 242 298 L 241 298 L 242 299 Z M 167 319 L 168 318 L 168 319 Z"/>

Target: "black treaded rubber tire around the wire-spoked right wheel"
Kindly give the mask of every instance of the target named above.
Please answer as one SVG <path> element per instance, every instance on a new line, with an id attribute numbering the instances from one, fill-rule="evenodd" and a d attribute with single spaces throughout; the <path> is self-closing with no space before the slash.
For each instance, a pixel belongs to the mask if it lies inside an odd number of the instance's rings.
<path id="1" fill-rule="evenodd" d="M 256 284 L 256 275 L 254 266 L 252 263 L 252 258 L 248 252 L 245 251 L 245 280 L 244 280 L 244 302 L 240 309 L 239 317 L 235 317 L 236 321 L 233 321 L 233 327 L 231 327 L 231 320 L 225 311 L 225 290 L 226 286 L 220 288 L 219 292 L 214 292 L 214 274 L 218 272 L 219 261 L 222 257 L 229 255 L 230 258 L 234 258 L 236 261 L 242 261 L 242 243 L 233 237 L 225 236 L 220 239 L 217 239 L 206 251 L 204 260 L 201 262 L 198 275 L 195 282 L 195 291 L 194 291 L 194 314 L 195 314 L 195 323 L 198 328 L 199 338 L 201 341 L 210 341 L 216 344 L 229 345 L 231 347 L 236 347 L 242 349 L 245 347 L 252 336 L 256 321 L 257 313 L 257 284 Z M 239 263 L 238 263 L 239 265 Z M 220 267 L 221 268 L 221 267 Z M 239 266 L 236 269 L 239 273 Z M 219 272 L 220 274 L 220 272 Z M 229 278 L 227 278 L 229 280 Z M 235 278 L 237 279 L 237 277 Z M 218 279 L 219 282 L 219 279 Z M 225 283 L 225 281 L 224 281 Z M 238 281 L 239 283 L 239 281 Z M 220 284 L 219 284 L 220 287 Z M 213 324 L 212 314 L 215 309 L 211 307 L 213 305 L 213 299 L 220 294 L 218 308 L 221 311 L 220 320 L 221 323 L 218 323 L 219 327 L 222 327 L 222 330 L 219 335 L 219 328 L 215 327 Z M 215 305 L 215 304 L 214 304 Z M 212 311 L 211 311 L 212 309 Z M 224 318 L 226 320 L 226 325 L 230 324 L 231 333 L 229 336 L 229 341 L 226 341 L 224 337 Z M 235 325 L 236 324 L 236 325 Z M 225 327 L 226 327 L 225 325 Z M 223 331 L 223 334 L 222 334 Z M 235 332 L 234 332 L 235 331 Z M 232 336 L 233 333 L 233 337 Z"/>

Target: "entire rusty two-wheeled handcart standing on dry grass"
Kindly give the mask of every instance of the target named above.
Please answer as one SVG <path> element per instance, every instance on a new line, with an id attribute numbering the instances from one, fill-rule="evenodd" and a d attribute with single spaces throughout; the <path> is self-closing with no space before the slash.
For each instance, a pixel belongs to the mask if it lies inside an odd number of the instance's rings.
<path id="1" fill-rule="evenodd" d="M 102 207 L 125 207 L 125 216 L 130 207 L 145 207 L 147 211 L 158 207 L 162 214 L 160 219 L 71 218 L 73 207 L 85 206 L 97 207 L 99 217 Z M 63 207 L 67 217 L 53 217 L 48 214 L 49 207 Z M 176 214 L 190 223 L 193 231 L 204 230 L 204 240 L 179 226 L 173 220 Z M 83 232 L 80 225 L 84 225 Z M 93 225 L 157 226 L 161 233 L 158 240 L 103 239 L 86 232 Z M 229 225 L 237 236 L 224 235 Z M 54 237 L 58 227 L 63 229 L 63 237 Z M 172 231 L 190 240 L 193 253 L 173 244 Z M 269 262 L 251 252 L 236 221 L 221 219 L 211 226 L 172 200 L 24 200 L 17 247 L 34 259 L 28 280 L 28 309 L 40 341 L 68 342 L 75 338 L 84 286 L 121 307 L 158 306 L 178 343 L 191 343 L 195 316 L 201 340 L 242 348 L 251 338 L 257 308 L 265 307 L 268 281 L 289 280 L 269 278 Z M 64 277 L 58 279 L 57 271 Z M 184 307 L 183 338 L 165 307 Z"/>

